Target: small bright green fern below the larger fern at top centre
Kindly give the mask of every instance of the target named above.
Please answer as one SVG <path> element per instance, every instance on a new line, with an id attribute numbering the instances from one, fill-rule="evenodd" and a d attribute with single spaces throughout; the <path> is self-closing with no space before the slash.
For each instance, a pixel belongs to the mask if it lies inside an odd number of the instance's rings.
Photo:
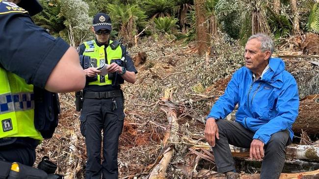
<path id="1" fill-rule="evenodd" d="M 171 33 L 173 29 L 179 27 L 176 24 L 178 22 L 178 19 L 172 17 L 155 18 L 154 22 L 157 29 L 168 34 Z"/>

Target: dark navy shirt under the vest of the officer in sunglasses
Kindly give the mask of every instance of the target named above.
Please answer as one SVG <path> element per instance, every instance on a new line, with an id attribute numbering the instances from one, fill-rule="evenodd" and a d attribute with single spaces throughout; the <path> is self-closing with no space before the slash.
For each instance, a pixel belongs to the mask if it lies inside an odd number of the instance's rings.
<path id="1" fill-rule="evenodd" d="M 98 46 L 102 46 L 96 39 L 95 42 Z M 107 46 L 106 46 L 107 47 Z M 122 57 L 124 56 L 124 53 L 126 52 L 126 70 L 127 71 L 133 71 L 135 74 L 137 73 L 136 68 L 134 67 L 133 60 L 129 53 L 125 50 L 125 46 L 121 45 L 122 48 Z M 85 51 L 85 45 L 81 44 L 79 46 L 79 55 L 83 55 Z M 89 77 L 87 77 L 89 78 Z M 109 91 L 109 90 L 119 90 L 121 89 L 121 86 L 112 86 L 112 85 L 104 85 L 104 86 L 99 86 L 99 85 L 85 85 L 84 91 L 95 91 L 95 92 L 101 92 L 101 91 Z"/>

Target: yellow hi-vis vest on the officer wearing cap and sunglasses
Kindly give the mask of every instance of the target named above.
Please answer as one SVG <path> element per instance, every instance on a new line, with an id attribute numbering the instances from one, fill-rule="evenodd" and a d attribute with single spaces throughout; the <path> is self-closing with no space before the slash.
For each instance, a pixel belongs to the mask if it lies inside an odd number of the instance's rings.
<path id="1" fill-rule="evenodd" d="M 111 44 L 112 41 L 109 41 L 109 44 Z M 108 45 L 105 50 L 105 45 L 99 46 L 95 43 L 95 41 L 88 41 L 84 42 L 85 45 L 85 51 L 83 55 L 90 56 L 91 58 L 97 59 L 97 67 L 102 67 L 104 64 L 109 65 L 111 60 L 113 59 L 121 59 L 122 58 L 122 48 L 119 45 L 115 50 L 112 50 L 112 48 Z M 106 53 L 106 59 L 105 59 L 105 53 Z M 94 82 L 90 82 L 89 85 L 111 85 L 112 80 L 108 79 L 108 75 L 101 76 L 98 75 L 98 80 Z"/>

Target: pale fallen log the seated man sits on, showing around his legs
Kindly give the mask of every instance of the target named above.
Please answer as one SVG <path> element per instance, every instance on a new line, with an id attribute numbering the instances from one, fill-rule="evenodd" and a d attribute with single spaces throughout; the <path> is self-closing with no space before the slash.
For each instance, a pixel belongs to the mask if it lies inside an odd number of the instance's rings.
<path id="1" fill-rule="evenodd" d="M 206 142 L 198 142 L 184 137 L 185 144 L 192 145 L 192 149 L 204 148 L 210 150 L 211 146 Z M 249 157 L 249 149 L 229 145 L 234 157 Z M 286 147 L 286 158 L 319 161 L 319 145 L 296 145 Z"/>

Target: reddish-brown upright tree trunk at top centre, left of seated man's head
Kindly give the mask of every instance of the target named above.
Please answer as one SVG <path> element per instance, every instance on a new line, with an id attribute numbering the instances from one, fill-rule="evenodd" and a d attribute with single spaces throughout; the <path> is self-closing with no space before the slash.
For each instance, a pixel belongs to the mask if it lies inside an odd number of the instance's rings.
<path id="1" fill-rule="evenodd" d="M 205 23 L 205 0 L 195 0 L 194 3 L 198 54 L 204 55 L 210 46 L 208 29 Z"/>

